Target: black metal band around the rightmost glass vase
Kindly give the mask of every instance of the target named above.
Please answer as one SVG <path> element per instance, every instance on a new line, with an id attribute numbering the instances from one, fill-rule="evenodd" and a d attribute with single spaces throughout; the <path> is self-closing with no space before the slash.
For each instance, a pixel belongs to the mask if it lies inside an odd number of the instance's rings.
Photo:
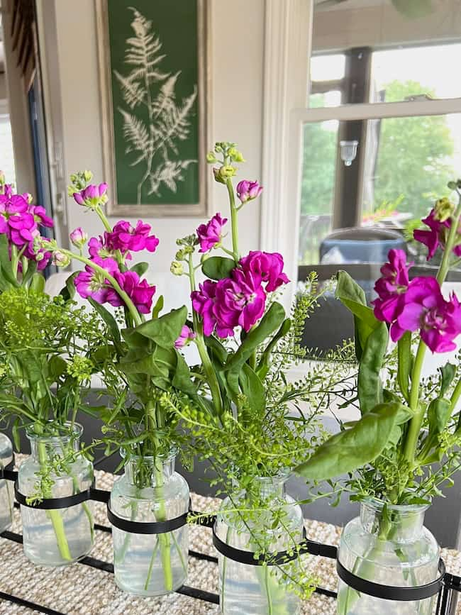
<path id="1" fill-rule="evenodd" d="M 438 571 L 440 575 L 435 581 L 426 585 L 419 585 L 418 587 L 392 587 L 391 585 L 382 585 L 367 581 L 361 577 L 357 577 L 353 572 L 346 570 L 340 560 L 336 560 L 336 570 L 338 577 L 345 582 L 346 585 L 355 589 L 360 594 L 367 594 L 374 598 L 381 598 L 384 600 L 396 600 L 397 602 L 405 602 L 408 600 L 424 600 L 431 598 L 438 594 L 440 587 L 443 584 L 443 577 L 445 575 L 445 564 L 440 559 L 438 563 Z"/>

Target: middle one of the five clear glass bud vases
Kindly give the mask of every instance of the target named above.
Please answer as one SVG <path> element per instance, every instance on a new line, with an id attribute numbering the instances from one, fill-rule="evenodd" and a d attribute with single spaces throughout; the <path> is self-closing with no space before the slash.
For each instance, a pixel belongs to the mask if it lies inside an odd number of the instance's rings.
<path id="1" fill-rule="evenodd" d="M 176 519 L 189 510 L 189 486 L 174 471 L 174 450 L 162 458 L 130 455 L 113 485 L 111 511 L 121 519 L 151 523 Z M 174 592 L 187 578 L 187 525 L 167 533 L 143 534 L 113 526 L 113 567 L 118 587 L 138 596 Z"/>

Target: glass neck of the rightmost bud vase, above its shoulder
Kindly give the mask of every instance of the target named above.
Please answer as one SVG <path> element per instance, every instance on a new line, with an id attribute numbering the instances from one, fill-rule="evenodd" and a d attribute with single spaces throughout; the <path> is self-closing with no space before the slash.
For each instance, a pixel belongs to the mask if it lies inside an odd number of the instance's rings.
<path id="1" fill-rule="evenodd" d="M 368 500 L 360 506 L 362 528 L 383 540 L 396 543 L 415 541 L 424 526 L 426 504 L 391 505 Z"/>

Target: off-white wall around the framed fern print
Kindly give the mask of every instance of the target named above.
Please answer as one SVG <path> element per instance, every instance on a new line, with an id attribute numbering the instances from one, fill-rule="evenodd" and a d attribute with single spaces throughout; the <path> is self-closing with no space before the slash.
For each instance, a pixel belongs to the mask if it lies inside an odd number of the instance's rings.
<path id="1" fill-rule="evenodd" d="M 49 0 L 39 0 L 46 13 Z M 262 86 L 265 0 L 211 0 L 211 113 L 216 140 L 238 143 L 248 162 L 248 179 L 261 178 Z M 62 89 L 62 130 L 67 174 L 90 169 L 104 179 L 101 145 L 101 111 L 96 55 L 94 0 L 54 0 L 57 59 Z M 45 14 L 46 16 L 46 14 Z M 47 53 L 56 52 L 48 49 Z M 214 184 L 213 211 L 226 211 L 226 189 Z M 91 214 L 68 199 L 69 228 L 85 226 L 98 233 Z M 155 269 L 168 270 L 177 237 L 194 231 L 200 218 L 145 219 L 160 238 L 153 255 Z M 241 250 L 260 243 L 260 206 L 250 203 L 241 216 Z"/>

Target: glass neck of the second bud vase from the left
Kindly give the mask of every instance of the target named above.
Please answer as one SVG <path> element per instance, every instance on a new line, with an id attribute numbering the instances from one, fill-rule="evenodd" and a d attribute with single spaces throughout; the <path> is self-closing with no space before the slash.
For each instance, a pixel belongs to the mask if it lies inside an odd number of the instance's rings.
<path id="1" fill-rule="evenodd" d="M 37 428 L 30 426 L 26 429 L 26 436 L 30 442 L 30 455 L 34 460 L 43 460 L 43 455 L 63 456 L 70 450 L 79 450 L 83 427 L 79 423 L 64 423 L 56 426 L 55 433 L 37 433 Z"/>

